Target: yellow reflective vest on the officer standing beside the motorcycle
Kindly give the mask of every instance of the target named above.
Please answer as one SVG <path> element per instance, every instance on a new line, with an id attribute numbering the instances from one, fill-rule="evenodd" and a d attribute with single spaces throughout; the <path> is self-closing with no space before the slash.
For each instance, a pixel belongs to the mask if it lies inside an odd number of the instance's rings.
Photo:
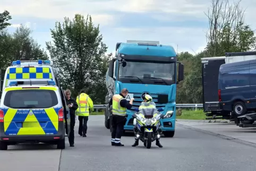
<path id="1" fill-rule="evenodd" d="M 124 99 L 121 95 L 114 95 L 112 98 L 112 114 L 113 115 L 126 115 L 126 107 L 120 105 L 120 101 Z"/>

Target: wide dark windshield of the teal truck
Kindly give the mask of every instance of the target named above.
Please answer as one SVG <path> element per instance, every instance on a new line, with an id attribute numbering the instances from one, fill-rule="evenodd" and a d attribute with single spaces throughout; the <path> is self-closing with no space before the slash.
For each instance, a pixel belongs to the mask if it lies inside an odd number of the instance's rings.
<path id="1" fill-rule="evenodd" d="M 140 79 L 151 77 L 174 81 L 175 63 L 126 62 L 125 67 L 120 65 L 118 76 L 135 76 Z"/>

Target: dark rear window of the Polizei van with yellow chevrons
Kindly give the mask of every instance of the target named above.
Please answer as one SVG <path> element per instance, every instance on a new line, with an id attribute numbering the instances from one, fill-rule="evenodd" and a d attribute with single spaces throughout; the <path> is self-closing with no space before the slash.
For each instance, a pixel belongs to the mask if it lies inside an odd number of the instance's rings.
<path id="1" fill-rule="evenodd" d="M 49 108 L 58 104 L 53 90 L 12 90 L 4 98 L 4 105 L 14 109 Z"/>

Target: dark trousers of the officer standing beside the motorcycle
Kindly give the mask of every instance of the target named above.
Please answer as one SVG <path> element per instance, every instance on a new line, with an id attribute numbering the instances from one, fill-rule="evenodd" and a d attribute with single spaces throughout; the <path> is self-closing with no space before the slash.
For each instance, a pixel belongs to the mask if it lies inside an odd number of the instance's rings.
<path id="1" fill-rule="evenodd" d="M 120 143 L 125 122 L 125 116 L 112 115 L 112 142 Z"/>

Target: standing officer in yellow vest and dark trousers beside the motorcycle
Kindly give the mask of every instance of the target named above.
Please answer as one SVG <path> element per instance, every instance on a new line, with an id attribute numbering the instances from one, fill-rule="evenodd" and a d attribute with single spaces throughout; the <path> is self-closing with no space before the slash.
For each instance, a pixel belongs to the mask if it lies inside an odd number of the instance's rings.
<path id="1" fill-rule="evenodd" d="M 109 101 L 109 105 L 112 105 L 112 146 L 124 146 L 120 140 L 126 123 L 126 108 L 131 109 L 134 100 L 132 98 L 129 102 L 125 99 L 128 92 L 124 88 L 119 95 L 114 95 Z"/>

